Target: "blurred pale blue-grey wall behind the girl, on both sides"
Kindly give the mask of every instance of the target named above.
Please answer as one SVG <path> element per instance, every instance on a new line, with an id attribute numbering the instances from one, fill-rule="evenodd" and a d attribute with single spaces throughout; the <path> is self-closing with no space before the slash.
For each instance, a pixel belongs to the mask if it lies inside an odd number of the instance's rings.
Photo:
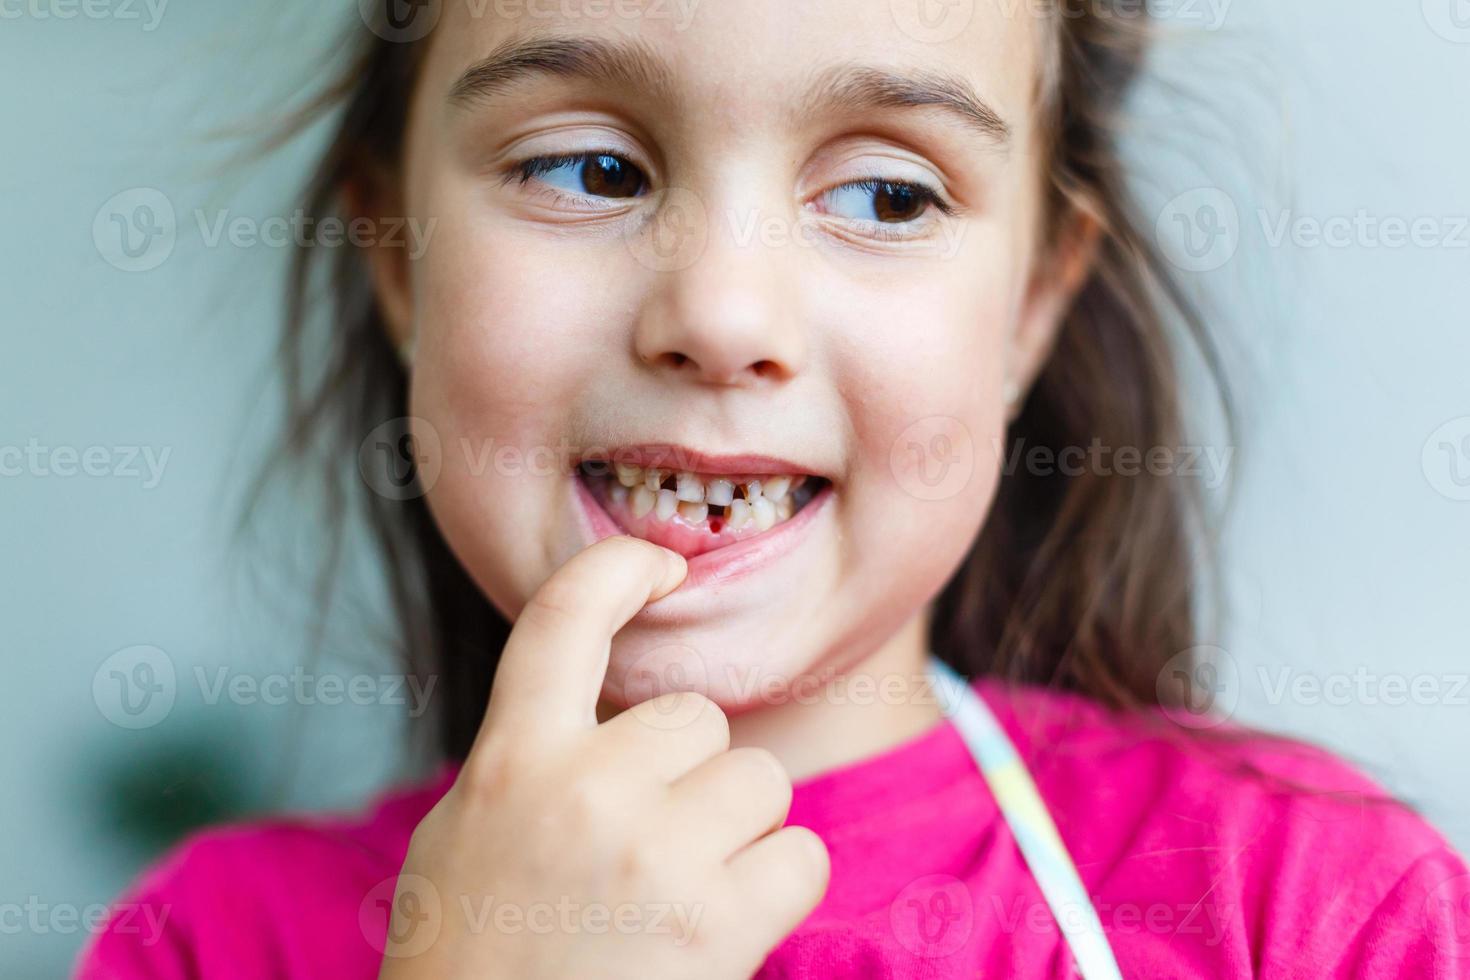
<path id="1" fill-rule="evenodd" d="M 1248 361 L 1230 619 L 1207 638 L 1225 651 L 1222 702 L 1345 752 L 1470 848 L 1464 7 L 1186 4 L 1182 21 L 1222 10 L 1223 29 L 1176 43 L 1170 72 L 1226 107 L 1257 165 L 1244 175 L 1210 154 L 1201 172 L 1147 140 L 1141 156 L 1158 165 L 1147 195 L 1169 247 L 1210 266 L 1195 279 Z M 110 899 L 147 860 L 125 833 L 138 815 L 116 805 L 129 786 L 175 788 L 187 820 L 350 805 L 406 765 L 398 708 L 210 705 L 194 679 L 290 674 L 309 608 L 269 555 L 243 567 L 228 550 L 244 482 L 272 450 L 285 250 L 210 247 L 194 212 L 288 215 L 310 145 L 220 173 L 226 148 L 207 135 L 310 81 L 353 4 L 171 3 L 153 22 L 113 0 L 91 7 L 100 18 L 35 15 L 63 9 L 6 3 L 0 19 L 0 447 L 40 447 L 49 469 L 68 448 L 103 447 L 106 461 L 94 453 L 93 476 L 0 476 L 0 973 L 18 977 L 62 973 L 82 933 L 51 912 Z M 1205 68 L 1222 46 L 1233 68 Z M 1169 103 L 1145 107 L 1141 140 L 1192 125 Z M 147 272 L 118 267 L 107 237 L 112 212 L 157 203 L 137 188 L 178 217 L 172 253 Z M 1283 209 L 1308 223 L 1273 242 Z M 1197 237 L 1223 217 L 1225 238 L 1197 238 L 1223 244 L 1179 251 L 1180 215 Z M 1342 247 L 1304 237 L 1332 219 L 1355 223 Z M 1435 241 L 1383 247 L 1391 219 L 1427 219 Z M 141 460 L 129 475 L 132 450 L 163 460 L 159 479 Z M 295 558 L 310 558 L 309 533 L 300 542 Z M 354 579 L 318 673 L 387 669 L 376 579 Z M 162 652 L 109 661 L 138 645 Z M 175 671 L 172 708 L 150 727 L 116 724 L 110 669 L 159 657 Z M 1347 696 L 1294 693 L 1302 673 Z M 1432 693 L 1386 702 L 1395 677 Z M 200 764 L 218 774 L 191 776 Z"/>

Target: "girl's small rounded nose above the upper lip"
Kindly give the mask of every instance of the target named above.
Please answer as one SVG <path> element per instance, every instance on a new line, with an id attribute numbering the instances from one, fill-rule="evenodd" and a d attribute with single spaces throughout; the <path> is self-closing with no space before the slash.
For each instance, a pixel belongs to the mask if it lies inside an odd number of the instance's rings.
<path id="1" fill-rule="evenodd" d="M 650 272 L 634 347 L 654 372 L 691 383 L 748 388 L 801 372 L 794 264 L 779 247 L 741 241 L 709 217 L 707 244 L 686 267 Z"/>

